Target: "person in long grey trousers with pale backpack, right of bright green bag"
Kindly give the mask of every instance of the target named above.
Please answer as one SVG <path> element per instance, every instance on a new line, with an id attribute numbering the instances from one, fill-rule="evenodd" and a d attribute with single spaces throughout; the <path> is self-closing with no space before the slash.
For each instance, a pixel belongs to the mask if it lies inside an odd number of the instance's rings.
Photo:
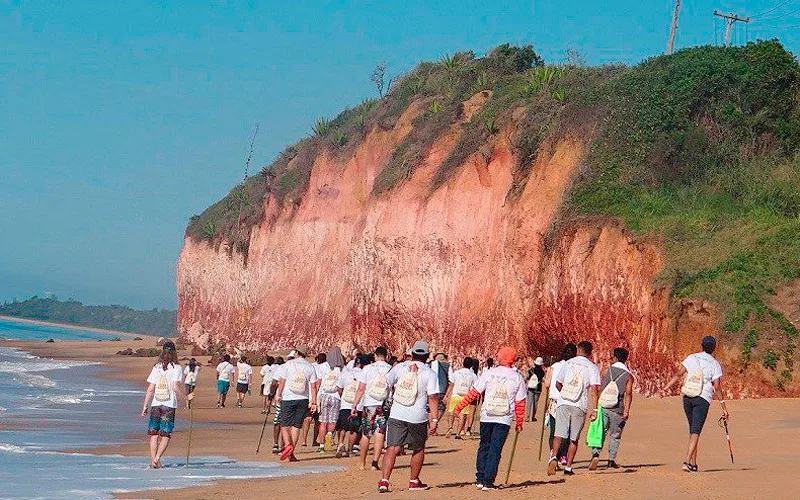
<path id="1" fill-rule="evenodd" d="M 622 431 L 628 422 L 633 403 L 633 375 L 628 369 L 628 350 L 617 347 L 612 353 L 614 363 L 602 375 L 600 406 L 603 408 L 603 442 L 608 441 L 608 468 L 617 469 L 617 453 Z M 611 385 L 614 384 L 614 385 Z M 597 469 L 600 463 L 600 448 L 592 448 L 589 470 Z"/>

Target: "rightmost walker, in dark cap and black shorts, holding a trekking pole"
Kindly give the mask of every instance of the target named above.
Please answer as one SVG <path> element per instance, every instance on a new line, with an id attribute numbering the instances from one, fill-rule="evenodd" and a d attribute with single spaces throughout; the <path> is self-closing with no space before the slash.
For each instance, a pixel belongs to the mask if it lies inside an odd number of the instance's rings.
<path id="1" fill-rule="evenodd" d="M 701 347 L 700 352 L 690 354 L 683 360 L 678 371 L 664 386 L 664 392 L 667 393 L 678 380 L 684 379 L 681 388 L 683 411 L 689 423 L 689 444 L 682 467 L 686 472 L 699 470 L 697 449 L 700 445 L 700 433 L 703 432 L 703 425 L 715 395 L 722 407 L 722 418 L 725 420 L 730 418 L 722 394 L 722 366 L 713 356 L 717 348 L 717 339 L 707 336 L 703 339 Z"/>

